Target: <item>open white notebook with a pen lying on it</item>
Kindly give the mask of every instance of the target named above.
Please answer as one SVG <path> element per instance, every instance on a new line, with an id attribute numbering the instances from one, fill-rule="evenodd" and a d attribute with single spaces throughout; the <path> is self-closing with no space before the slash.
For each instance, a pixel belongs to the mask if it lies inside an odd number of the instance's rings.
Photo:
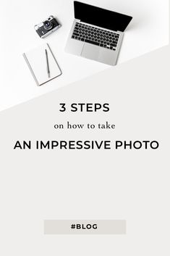
<path id="1" fill-rule="evenodd" d="M 23 56 L 38 86 L 61 75 L 61 69 L 48 44 L 27 51 Z"/>

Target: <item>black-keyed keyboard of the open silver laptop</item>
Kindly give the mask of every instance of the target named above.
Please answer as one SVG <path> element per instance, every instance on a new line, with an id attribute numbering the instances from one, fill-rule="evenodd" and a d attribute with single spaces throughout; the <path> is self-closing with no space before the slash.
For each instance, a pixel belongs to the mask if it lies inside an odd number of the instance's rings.
<path id="1" fill-rule="evenodd" d="M 116 51 L 119 34 L 76 22 L 72 38 Z"/>

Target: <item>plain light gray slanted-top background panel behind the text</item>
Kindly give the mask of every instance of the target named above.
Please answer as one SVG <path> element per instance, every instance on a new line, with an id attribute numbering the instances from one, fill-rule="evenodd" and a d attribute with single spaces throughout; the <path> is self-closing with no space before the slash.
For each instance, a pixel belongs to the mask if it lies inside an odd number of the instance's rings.
<path id="1" fill-rule="evenodd" d="M 109 102 L 110 112 L 59 112 Z M 0 113 L 3 255 L 169 255 L 169 46 Z M 109 120 L 114 131 L 55 131 Z M 16 140 L 158 140 L 156 151 L 14 151 Z M 44 236 L 45 219 L 124 219 L 125 236 Z M 10 246 L 9 246 L 10 244 Z"/>

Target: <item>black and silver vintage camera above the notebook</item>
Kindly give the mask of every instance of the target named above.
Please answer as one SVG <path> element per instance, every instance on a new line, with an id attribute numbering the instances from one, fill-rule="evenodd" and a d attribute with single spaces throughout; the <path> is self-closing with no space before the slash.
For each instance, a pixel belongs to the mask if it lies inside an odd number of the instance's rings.
<path id="1" fill-rule="evenodd" d="M 54 16 L 51 15 L 50 17 L 48 17 L 47 20 L 44 20 L 38 25 L 35 25 L 34 28 L 38 33 L 38 36 L 40 36 L 41 38 L 45 38 L 60 27 L 61 25 L 59 24 L 59 22 L 57 22 Z"/>

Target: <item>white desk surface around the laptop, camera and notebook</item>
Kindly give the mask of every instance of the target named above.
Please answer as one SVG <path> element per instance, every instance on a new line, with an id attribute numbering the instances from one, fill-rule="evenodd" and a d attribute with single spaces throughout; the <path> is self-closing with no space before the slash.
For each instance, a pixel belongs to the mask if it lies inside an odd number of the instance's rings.
<path id="1" fill-rule="evenodd" d="M 84 2 L 132 15 L 133 20 L 126 30 L 118 65 L 165 46 L 169 42 L 169 0 L 84 0 Z M 34 25 L 45 20 L 49 15 L 58 17 L 62 27 L 48 38 L 41 39 L 35 33 Z M 2 1 L 0 19 L 2 26 L 0 110 L 54 91 L 106 68 L 112 68 L 114 72 L 114 67 L 64 52 L 74 20 L 72 0 Z M 38 87 L 25 64 L 22 53 L 45 41 L 54 51 L 63 75 L 45 86 Z"/>

